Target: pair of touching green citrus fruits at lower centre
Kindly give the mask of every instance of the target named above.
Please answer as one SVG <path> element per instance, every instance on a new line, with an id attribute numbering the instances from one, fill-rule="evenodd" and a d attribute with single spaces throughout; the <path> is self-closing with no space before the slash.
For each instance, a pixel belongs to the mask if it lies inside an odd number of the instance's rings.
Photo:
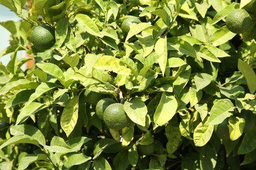
<path id="1" fill-rule="evenodd" d="M 123 105 L 116 103 L 114 99 L 100 99 L 96 104 L 96 115 L 110 129 L 121 130 L 129 124 L 129 118 L 123 109 Z"/>

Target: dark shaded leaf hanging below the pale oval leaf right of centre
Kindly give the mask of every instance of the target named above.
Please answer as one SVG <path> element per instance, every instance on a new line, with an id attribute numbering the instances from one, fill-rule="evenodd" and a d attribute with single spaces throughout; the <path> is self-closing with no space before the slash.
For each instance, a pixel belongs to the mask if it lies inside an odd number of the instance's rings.
<path id="1" fill-rule="evenodd" d="M 167 144 L 166 149 L 168 154 L 173 154 L 181 144 L 181 132 L 179 128 L 178 122 L 171 121 L 167 126 L 165 127 L 166 131 L 166 137 L 167 137 Z"/>

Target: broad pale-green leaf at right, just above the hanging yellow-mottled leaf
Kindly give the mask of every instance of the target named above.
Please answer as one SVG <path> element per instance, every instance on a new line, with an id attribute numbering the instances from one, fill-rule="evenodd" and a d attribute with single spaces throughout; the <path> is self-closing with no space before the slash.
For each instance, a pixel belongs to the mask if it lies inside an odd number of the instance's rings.
<path id="1" fill-rule="evenodd" d="M 233 110 L 234 105 L 229 99 L 220 99 L 211 108 L 209 124 L 221 124 L 225 118 L 232 115 Z"/>

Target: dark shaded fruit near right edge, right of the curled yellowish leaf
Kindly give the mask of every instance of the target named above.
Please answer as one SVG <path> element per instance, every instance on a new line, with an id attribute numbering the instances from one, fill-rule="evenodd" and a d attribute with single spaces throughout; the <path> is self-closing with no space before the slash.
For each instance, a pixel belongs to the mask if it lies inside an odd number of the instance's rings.
<path id="1" fill-rule="evenodd" d="M 253 112 L 249 110 L 242 110 L 240 118 L 244 118 L 245 120 L 244 133 L 251 131 L 253 127 L 256 126 L 256 117 Z"/>

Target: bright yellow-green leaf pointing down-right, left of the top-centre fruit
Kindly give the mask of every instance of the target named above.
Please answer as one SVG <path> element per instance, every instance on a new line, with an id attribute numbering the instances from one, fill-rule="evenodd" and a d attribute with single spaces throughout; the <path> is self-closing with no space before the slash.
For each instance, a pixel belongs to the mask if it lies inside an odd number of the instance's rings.
<path id="1" fill-rule="evenodd" d="M 79 30 L 88 32 L 89 34 L 95 35 L 96 37 L 102 37 L 97 25 L 89 16 L 85 14 L 77 14 L 75 16 L 75 20 L 78 22 Z"/>

